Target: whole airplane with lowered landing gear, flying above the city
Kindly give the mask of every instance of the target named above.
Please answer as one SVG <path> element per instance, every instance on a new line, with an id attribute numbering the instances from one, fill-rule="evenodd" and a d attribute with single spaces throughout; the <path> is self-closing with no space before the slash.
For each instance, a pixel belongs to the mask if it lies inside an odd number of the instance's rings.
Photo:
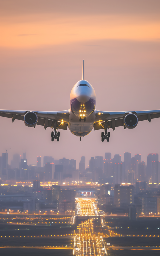
<path id="1" fill-rule="evenodd" d="M 0 116 L 23 120 L 28 127 L 43 125 L 46 130 L 51 127 L 51 141 L 59 141 L 60 132 L 57 130 L 70 130 L 78 137 L 88 135 L 94 127 L 94 130 L 103 129 L 101 132 L 101 141 L 109 142 L 110 128 L 123 126 L 128 129 L 134 129 L 139 121 L 160 117 L 160 110 L 149 111 L 125 111 L 125 112 L 107 112 L 95 109 L 96 94 L 92 85 L 84 80 L 84 60 L 82 65 L 82 78 L 72 88 L 70 93 L 70 109 L 64 111 L 22 111 L 22 110 L 0 110 Z"/>

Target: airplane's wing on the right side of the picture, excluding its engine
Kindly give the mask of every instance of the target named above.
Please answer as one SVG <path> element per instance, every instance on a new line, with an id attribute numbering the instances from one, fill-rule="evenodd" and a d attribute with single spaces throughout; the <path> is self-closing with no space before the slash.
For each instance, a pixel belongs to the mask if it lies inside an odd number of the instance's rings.
<path id="1" fill-rule="evenodd" d="M 126 126 L 124 125 L 124 118 L 127 114 L 133 113 L 137 116 L 138 121 L 148 120 L 151 122 L 153 118 L 160 117 L 160 110 L 148 110 L 148 111 L 126 111 L 126 112 L 106 112 L 96 110 L 96 120 L 94 123 L 94 130 L 104 129 L 104 125 L 107 125 L 107 128 L 112 128 L 115 130 L 117 126 Z"/>

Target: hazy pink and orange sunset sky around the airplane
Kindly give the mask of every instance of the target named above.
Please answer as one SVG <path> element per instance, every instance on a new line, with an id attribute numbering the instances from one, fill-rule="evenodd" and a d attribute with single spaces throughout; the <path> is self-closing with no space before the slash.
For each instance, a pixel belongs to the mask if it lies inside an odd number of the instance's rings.
<path id="1" fill-rule="evenodd" d="M 160 1 L 1 1 L 1 109 L 59 111 L 69 109 L 70 91 L 84 79 L 96 92 L 96 109 L 136 111 L 160 109 Z M 4 117 L 1 150 L 77 160 L 105 152 L 160 153 L 160 119 L 138 123 L 135 129 L 110 129 L 80 138 L 52 129 L 24 126 Z"/>

